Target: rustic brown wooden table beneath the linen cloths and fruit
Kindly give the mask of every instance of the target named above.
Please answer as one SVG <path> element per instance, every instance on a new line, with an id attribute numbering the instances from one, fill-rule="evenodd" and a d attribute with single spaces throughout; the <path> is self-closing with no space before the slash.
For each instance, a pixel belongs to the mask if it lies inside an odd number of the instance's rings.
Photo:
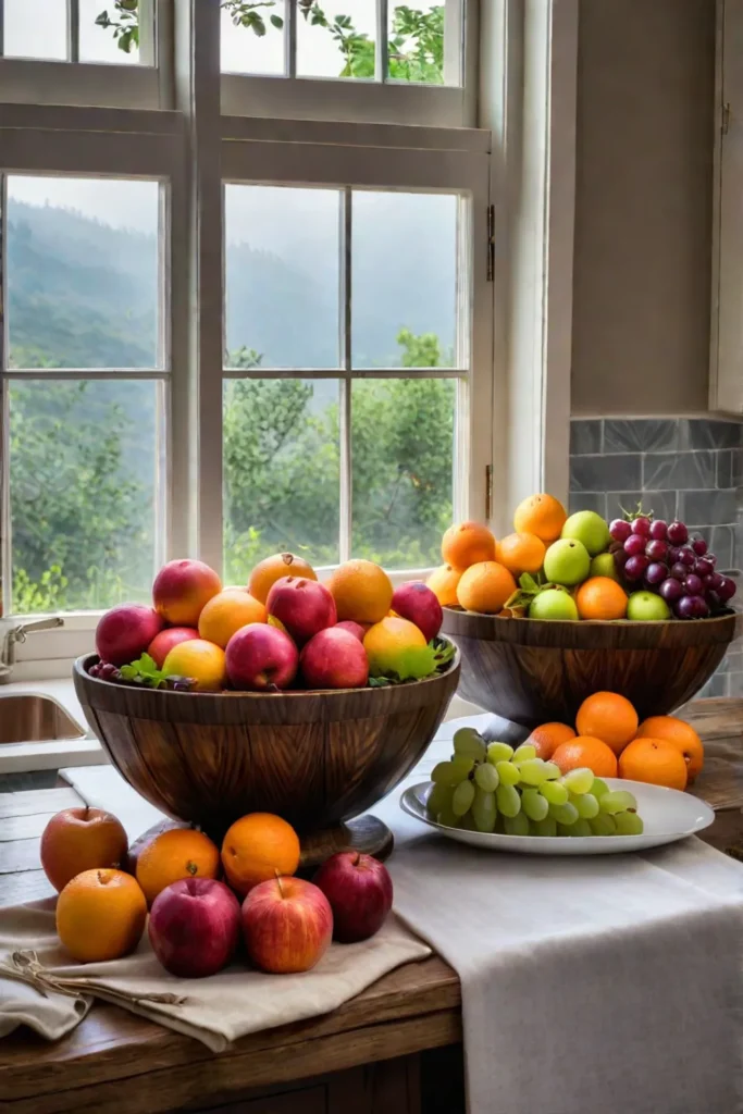
<path id="1" fill-rule="evenodd" d="M 720 809 L 704 839 L 743 858 L 743 700 L 684 711 L 706 744 L 698 795 Z M 0 905 L 51 892 L 38 839 L 71 789 L 0 794 Z M 461 996 L 441 959 L 410 964 L 325 1017 L 254 1034 L 215 1055 L 114 1006 L 98 1005 L 57 1044 L 28 1032 L 0 1043 L 8 1114 L 458 1114 L 463 1110 Z M 433 1049 L 433 1052 L 432 1052 Z"/>

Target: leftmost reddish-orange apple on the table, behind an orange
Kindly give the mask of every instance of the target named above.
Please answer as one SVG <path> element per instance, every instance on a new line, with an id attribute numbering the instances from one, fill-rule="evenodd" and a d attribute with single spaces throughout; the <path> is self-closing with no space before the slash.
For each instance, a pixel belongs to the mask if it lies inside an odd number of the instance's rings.
<path id="1" fill-rule="evenodd" d="M 118 868 L 126 861 L 128 847 L 121 822 L 110 812 L 86 807 L 63 809 L 43 829 L 41 866 L 59 892 L 84 870 Z"/>

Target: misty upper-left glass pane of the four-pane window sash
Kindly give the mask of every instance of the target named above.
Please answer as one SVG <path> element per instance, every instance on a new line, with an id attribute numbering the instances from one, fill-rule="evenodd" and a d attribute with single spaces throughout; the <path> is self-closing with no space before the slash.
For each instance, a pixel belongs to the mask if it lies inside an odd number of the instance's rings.
<path id="1" fill-rule="evenodd" d="M 246 368 L 338 368 L 336 189 L 228 185 L 226 361 Z"/>

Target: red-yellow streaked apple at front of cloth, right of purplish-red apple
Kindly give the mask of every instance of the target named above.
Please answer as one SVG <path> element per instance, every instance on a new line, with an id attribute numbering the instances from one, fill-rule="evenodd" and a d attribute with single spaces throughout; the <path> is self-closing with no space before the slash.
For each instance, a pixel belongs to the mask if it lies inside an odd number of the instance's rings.
<path id="1" fill-rule="evenodd" d="M 263 971 L 309 971 L 333 937 L 327 898 L 301 878 L 271 878 L 243 901 L 243 937 L 252 962 Z"/>

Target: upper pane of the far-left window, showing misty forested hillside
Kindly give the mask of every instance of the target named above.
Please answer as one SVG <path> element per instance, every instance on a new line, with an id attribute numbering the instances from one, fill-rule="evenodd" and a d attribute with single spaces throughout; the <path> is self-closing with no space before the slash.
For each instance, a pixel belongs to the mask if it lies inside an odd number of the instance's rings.
<path id="1" fill-rule="evenodd" d="M 156 182 L 8 178 L 11 368 L 158 367 Z"/>

